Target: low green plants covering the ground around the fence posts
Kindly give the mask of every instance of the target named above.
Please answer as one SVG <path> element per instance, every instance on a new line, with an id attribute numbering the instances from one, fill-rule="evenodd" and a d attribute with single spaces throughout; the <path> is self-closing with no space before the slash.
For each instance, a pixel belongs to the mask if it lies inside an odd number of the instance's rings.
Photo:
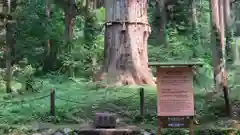
<path id="1" fill-rule="evenodd" d="M 0 115 L 2 116 L 0 117 L 0 125 L 4 123 L 8 125 L 28 125 L 36 120 L 52 122 L 53 118 L 49 117 L 49 97 L 38 100 L 32 99 L 48 95 L 50 89 L 54 88 L 56 92 L 56 117 L 54 122 L 56 124 L 86 122 L 92 119 L 96 112 L 111 109 L 111 111 L 118 113 L 119 118 L 126 123 L 139 125 L 142 129 L 156 130 L 156 88 L 144 87 L 144 102 L 146 106 L 144 108 L 144 119 L 139 120 L 137 118 L 139 116 L 138 87 L 96 89 L 95 85 L 86 81 L 86 79 L 67 79 L 64 75 L 56 74 L 48 74 L 44 78 L 35 78 L 35 80 L 43 80 L 43 87 L 39 93 L 0 95 Z M 217 133 L 235 131 L 232 129 L 221 129 L 221 126 L 215 122 L 220 119 L 220 117 L 216 117 L 216 114 L 219 114 L 221 111 L 219 106 L 223 108 L 223 101 L 217 99 L 215 102 L 206 104 L 204 102 L 205 96 L 202 93 L 199 94 L 198 88 L 195 89 L 197 93 L 195 98 L 197 114 L 201 113 L 199 117 L 200 123 L 203 123 L 205 119 L 209 120 L 211 118 L 214 121 L 211 126 L 216 128 L 212 130 L 196 129 L 196 134 L 216 135 Z M 22 100 L 26 100 L 26 102 Z M 204 108 L 201 109 L 200 106 Z M 226 125 L 224 124 L 223 126 Z M 163 130 L 163 134 L 166 135 L 187 135 L 187 133 L 187 130 Z"/>

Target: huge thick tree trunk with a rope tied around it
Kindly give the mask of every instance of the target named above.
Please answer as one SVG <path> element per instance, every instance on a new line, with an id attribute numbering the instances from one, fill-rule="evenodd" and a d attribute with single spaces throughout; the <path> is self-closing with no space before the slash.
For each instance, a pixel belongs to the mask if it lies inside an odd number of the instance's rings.
<path id="1" fill-rule="evenodd" d="M 105 79 L 108 84 L 154 84 L 148 68 L 147 0 L 105 0 Z"/>

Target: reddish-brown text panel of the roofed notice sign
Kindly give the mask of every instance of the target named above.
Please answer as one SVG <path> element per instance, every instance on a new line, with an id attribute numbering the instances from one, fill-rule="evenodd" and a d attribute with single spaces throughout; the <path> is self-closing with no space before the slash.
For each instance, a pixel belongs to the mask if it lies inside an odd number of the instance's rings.
<path id="1" fill-rule="evenodd" d="M 192 69 L 160 67 L 157 76 L 158 116 L 194 116 Z"/>

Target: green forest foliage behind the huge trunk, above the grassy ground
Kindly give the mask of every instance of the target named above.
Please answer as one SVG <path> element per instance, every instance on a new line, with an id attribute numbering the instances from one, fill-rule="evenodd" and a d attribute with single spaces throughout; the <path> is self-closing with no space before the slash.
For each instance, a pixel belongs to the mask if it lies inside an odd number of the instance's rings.
<path id="1" fill-rule="evenodd" d="M 57 53 L 57 61 L 54 70 L 68 76 L 91 77 L 92 72 L 101 67 L 104 50 L 104 22 L 105 9 L 86 8 L 86 1 L 76 1 L 79 15 L 74 21 L 74 36 L 70 44 L 64 42 L 64 1 L 54 1 L 51 17 L 46 18 L 44 2 L 25 1 L 17 9 L 16 29 L 16 62 L 23 58 L 28 64 L 40 71 L 43 59 L 47 53 L 46 42 L 51 40 L 52 49 Z M 181 5 L 181 6 L 178 6 Z M 168 24 L 166 37 L 168 47 L 157 43 L 156 33 L 159 30 L 157 21 L 159 9 L 156 8 L 154 0 L 149 1 L 148 19 L 152 27 L 149 38 L 149 61 L 172 61 L 200 59 L 207 64 L 207 69 L 202 69 L 199 76 L 211 78 L 211 53 L 209 36 L 209 6 L 203 0 L 198 5 L 199 29 L 192 29 L 190 4 L 188 1 L 169 5 Z M 42 34 L 44 33 L 44 34 Z M 195 35 L 195 36 L 194 36 Z M 193 37 L 200 36 L 198 39 Z M 71 47 L 70 47 L 71 46 Z M 67 48 L 71 48 L 70 50 Z M 205 74 L 205 70 L 208 70 Z M 210 71 L 209 71 L 210 70 Z M 199 78 L 200 78 L 199 77 Z M 204 78 L 204 77 L 203 77 Z"/>

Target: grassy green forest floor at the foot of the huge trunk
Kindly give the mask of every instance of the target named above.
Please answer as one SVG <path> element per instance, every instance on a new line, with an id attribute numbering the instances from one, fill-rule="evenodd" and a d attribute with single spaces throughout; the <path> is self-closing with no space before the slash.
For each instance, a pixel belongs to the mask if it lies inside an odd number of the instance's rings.
<path id="1" fill-rule="evenodd" d="M 1 94 L 0 131 L 2 133 L 0 134 L 13 128 L 37 130 L 51 126 L 84 126 L 92 122 L 96 112 L 116 113 L 119 116 L 119 125 L 136 125 L 142 129 L 156 130 L 155 88 L 144 87 L 144 119 L 141 119 L 139 86 L 102 89 L 81 79 L 67 80 L 64 77 L 36 79 L 39 82 L 42 80 L 41 89 L 38 92 Z M 50 89 L 56 91 L 55 117 L 49 115 Z M 196 127 L 232 128 L 233 121 L 224 115 L 224 101 L 221 96 L 208 97 L 206 91 L 200 88 L 195 88 L 195 90 L 197 118 L 200 121 Z M 36 123 L 38 123 L 37 127 Z M 42 126 L 39 126 L 39 123 L 43 123 Z M 236 127 L 238 127 L 237 124 L 235 124 Z"/>

